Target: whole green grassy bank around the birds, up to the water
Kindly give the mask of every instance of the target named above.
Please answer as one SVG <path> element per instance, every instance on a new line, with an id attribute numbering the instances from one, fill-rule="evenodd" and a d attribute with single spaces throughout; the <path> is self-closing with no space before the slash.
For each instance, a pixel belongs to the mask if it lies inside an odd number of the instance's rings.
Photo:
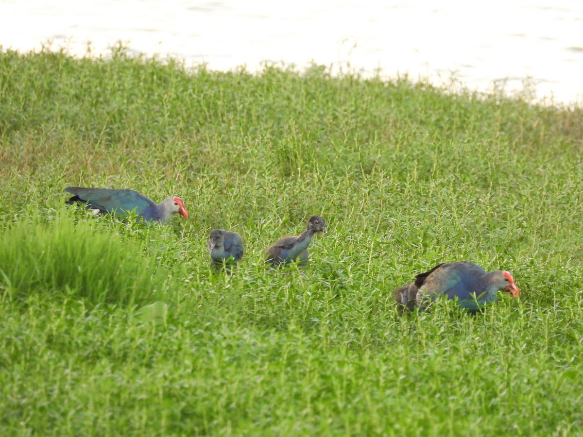
<path id="1" fill-rule="evenodd" d="M 0 434 L 581 435 L 582 147 L 582 108 L 456 84 L 2 50 Z M 71 185 L 189 218 L 96 220 Z M 305 275 L 266 272 L 311 214 Z M 520 299 L 398 317 L 460 259 Z"/>

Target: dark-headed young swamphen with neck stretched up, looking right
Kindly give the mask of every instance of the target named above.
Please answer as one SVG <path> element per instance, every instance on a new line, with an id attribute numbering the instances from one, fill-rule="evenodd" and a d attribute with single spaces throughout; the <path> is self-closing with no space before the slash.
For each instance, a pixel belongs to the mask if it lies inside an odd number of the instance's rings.
<path id="1" fill-rule="evenodd" d="M 283 237 L 273 243 L 265 255 L 265 263 L 269 267 L 286 266 L 291 262 L 298 262 L 298 265 L 305 267 L 308 265 L 308 246 L 316 232 L 326 233 L 324 218 L 311 216 L 305 231 L 298 237 Z"/>

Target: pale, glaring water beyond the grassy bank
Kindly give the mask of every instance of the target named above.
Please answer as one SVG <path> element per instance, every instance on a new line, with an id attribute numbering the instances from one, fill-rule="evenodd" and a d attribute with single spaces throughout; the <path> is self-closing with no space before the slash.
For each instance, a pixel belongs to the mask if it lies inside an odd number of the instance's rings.
<path id="1" fill-rule="evenodd" d="M 0 44 L 51 40 L 83 54 L 121 40 L 135 52 L 229 70 L 261 63 L 347 66 L 394 77 L 452 74 L 470 89 L 583 100 L 583 1 L 0 1 Z M 524 92 L 524 90 L 523 90 Z"/>

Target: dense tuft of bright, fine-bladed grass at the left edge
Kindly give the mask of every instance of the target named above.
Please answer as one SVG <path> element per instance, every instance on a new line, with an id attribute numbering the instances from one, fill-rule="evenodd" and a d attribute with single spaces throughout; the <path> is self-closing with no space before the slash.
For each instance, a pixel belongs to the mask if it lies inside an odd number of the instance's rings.
<path id="1" fill-rule="evenodd" d="M 111 227 L 75 223 L 65 212 L 47 217 L 48 223 L 41 223 L 38 209 L 27 214 L 31 223 L 17 222 L 0 237 L 0 277 L 9 300 L 26 301 L 41 290 L 65 291 L 94 305 L 131 305 L 164 287 L 156 257 L 137 257 L 142 246 Z"/>

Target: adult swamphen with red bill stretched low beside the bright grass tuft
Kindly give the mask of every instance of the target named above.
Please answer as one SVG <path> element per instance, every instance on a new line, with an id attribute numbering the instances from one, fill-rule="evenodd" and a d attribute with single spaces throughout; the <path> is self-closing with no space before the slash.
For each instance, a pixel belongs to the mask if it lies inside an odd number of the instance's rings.
<path id="1" fill-rule="evenodd" d="M 67 203 L 85 205 L 87 209 L 93 210 L 95 215 L 118 214 L 123 216 L 126 215 L 126 212 L 135 209 L 135 213 L 141 216 L 144 221 L 152 220 L 166 223 L 174 213 L 188 218 L 184 201 L 174 196 L 164 199 L 156 205 L 146 196 L 133 190 L 69 186 L 65 188 L 65 191 L 73 195 Z"/>

